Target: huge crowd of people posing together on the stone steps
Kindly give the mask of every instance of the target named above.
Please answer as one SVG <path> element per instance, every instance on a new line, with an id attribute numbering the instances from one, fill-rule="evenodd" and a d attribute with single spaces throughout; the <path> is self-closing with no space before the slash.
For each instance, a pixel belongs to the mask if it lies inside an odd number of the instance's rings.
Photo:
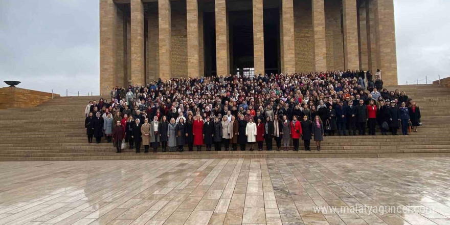
<path id="1" fill-rule="evenodd" d="M 379 74 L 379 71 L 377 71 Z M 106 137 L 117 152 L 247 148 L 321 150 L 324 136 L 408 135 L 420 110 L 406 93 L 383 88 L 370 71 L 172 78 L 115 87 L 85 109 L 88 142 Z M 411 129 L 412 130 L 409 130 Z M 230 149 L 231 148 L 231 149 Z M 255 147 L 256 148 L 256 147 Z"/>

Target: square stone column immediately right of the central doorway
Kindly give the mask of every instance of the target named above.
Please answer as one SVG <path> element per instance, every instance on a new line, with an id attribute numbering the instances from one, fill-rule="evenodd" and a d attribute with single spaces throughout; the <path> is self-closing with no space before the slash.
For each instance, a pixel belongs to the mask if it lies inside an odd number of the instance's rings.
<path id="1" fill-rule="evenodd" d="M 255 75 L 264 75 L 263 0 L 253 0 L 253 61 Z"/>

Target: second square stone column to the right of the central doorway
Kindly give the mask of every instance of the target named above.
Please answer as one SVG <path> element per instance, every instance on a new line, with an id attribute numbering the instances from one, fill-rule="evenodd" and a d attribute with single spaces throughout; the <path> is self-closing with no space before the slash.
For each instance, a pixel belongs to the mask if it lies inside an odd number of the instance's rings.
<path id="1" fill-rule="evenodd" d="M 282 73 L 295 73 L 295 44 L 294 44 L 294 2 L 293 0 L 281 0 L 282 29 L 281 53 Z"/>

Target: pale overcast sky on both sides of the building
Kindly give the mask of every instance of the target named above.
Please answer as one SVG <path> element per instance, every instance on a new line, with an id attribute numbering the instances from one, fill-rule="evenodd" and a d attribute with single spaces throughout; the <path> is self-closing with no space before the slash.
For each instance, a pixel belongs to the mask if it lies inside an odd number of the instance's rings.
<path id="1" fill-rule="evenodd" d="M 399 83 L 449 76 L 450 1 L 394 6 Z M 98 0 L 0 0 L 0 78 L 2 86 L 98 94 Z"/>

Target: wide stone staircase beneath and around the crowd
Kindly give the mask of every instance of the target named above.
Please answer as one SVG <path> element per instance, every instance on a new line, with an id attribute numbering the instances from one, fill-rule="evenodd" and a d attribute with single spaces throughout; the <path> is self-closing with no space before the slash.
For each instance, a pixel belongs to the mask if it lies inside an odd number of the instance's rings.
<path id="1" fill-rule="evenodd" d="M 59 97 L 34 108 L 0 110 L 0 161 L 450 156 L 450 88 L 432 84 L 387 88 L 405 91 L 417 102 L 423 123 L 419 132 L 410 136 L 381 136 L 377 132 L 377 136 L 325 137 L 320 152 L 314 150 L 312 142 L 312 151 L 299 152 L 134 153 L 134 149 L 125 149 L 116 153 L 112 144 L 87 143 L 84 108 L 100 96 Z M 303 150 L 302 143 L 300 148 Z"/>

